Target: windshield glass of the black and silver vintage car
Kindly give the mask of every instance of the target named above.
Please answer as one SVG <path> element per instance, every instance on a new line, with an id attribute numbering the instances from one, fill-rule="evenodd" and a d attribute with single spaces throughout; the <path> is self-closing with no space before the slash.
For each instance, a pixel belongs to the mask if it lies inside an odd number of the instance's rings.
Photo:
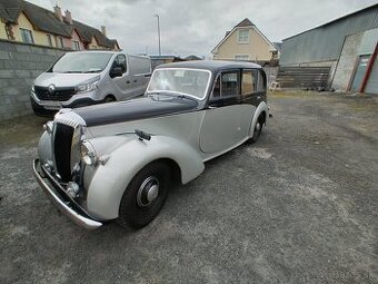
<path id="1" fill-rule="evenodd" d="M 172 92 L 203 99 L 209 85 L 210 71 L 196 69 L 157 69 L 147 92 Z"/>

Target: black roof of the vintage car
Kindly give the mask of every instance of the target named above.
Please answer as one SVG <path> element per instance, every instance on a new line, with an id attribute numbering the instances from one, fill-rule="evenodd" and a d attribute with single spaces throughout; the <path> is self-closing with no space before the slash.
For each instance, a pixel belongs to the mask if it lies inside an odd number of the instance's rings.
<path id="1" fill-rule="evenodd" d="M 246 62 L 246 61 L 232 61 L 232 60 L 193 60 L 193 61 L 181 61 L 166 65 L 159 65 L 157 69 L 162 68 L 191 68 L 191 69 L 205 69 L 212 72 L 218 72 L 223 69 L 240 69 L 240 68 L 253 68 L 261 69 L 261 66 Z"/>

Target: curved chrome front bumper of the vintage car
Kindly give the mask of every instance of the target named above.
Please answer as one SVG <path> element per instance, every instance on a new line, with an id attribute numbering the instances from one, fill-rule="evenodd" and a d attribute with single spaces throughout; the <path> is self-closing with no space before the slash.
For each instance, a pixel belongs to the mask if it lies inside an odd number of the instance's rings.
<path id="1" fill-rule="evenodd" d="M 71 207 L 69 207 L 64 200 L 62 200 L 58 194 L 51 188 L 46 182 L 44 178 L 41 176 L 41 174 L 38 172 L 38 166 L 40 164 L 39 159 L 34 159 L 33 161 L 33 175 L 38 182 L 38 184 L 42 187 L 46 195 L 49 197 L 51 203 L 57 206 L 66 216 L 68 216 L 70 219 L 72 219 L 76 224 L 79 226 L 82 226 L 88 229 L 96 229 L 103 225 L 100 221 L 94 221 L 89 217 L 86 217 L 78 212 L 73 210 Z M 61 188 L 62 189 L 62 188 Z"/>

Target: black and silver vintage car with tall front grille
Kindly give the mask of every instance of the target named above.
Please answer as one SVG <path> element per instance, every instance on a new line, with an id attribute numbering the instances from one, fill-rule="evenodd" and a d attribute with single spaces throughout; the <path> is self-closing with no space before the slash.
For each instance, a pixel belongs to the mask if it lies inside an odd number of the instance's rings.
<path id="1" fill-rule="evenodd" d="M 34 177 L 79 225 L 143 227 L 175 182 L 189 183 L 207 160 L 258 139 L 269 117 L 266 87 L 250 62 L 159 66 L 143 97 L 61 109 L 44 125 Z"/>

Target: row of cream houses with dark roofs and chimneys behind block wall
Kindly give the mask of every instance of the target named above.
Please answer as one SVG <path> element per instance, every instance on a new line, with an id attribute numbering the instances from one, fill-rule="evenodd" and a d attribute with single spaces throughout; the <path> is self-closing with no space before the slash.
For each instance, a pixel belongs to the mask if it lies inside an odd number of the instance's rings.
<path id="1" fill-rule="evenodd" d="M 60 7 L 53 9 L 23 0 L 0 0 L 0 39 L 72 50 L 119 49 L 117 40 L 74 21 L 70 11 L 63 16 Z"/>

